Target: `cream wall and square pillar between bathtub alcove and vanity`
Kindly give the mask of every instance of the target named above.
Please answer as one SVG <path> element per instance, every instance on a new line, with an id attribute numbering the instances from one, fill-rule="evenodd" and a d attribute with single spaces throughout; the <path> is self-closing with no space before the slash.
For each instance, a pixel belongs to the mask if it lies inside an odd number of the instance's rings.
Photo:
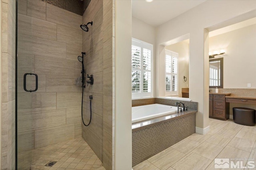
<path id="1" fill-rule="evenodd" d="M 241 8 L 241 6 L 243 8 Z M 156 61 L 160 56 L 161 46 L 177 37 L 190 35 L 190 99 L 198 102 L 196 127 L 208 127 L 208 89 L 207 73 L 208 61 L 208 32 L 205 28 L 222 28 L 227 25 L 241 22 L 255 17 L 256 1 L 250 0 L 222 0 L 206 1 L 180 16 L 162 24 L 156 28 Z M 205 37 L 206 36 L 206 37 Z M 158 49 L 159 48 L 159 49 Z M 156 81 L 158 87 L 161 84 L 164 68 L 158 63 Z M 164 82 L 164 81 L 163 81 Z M 208 82 L 208 83 L 207 83 Z"/>

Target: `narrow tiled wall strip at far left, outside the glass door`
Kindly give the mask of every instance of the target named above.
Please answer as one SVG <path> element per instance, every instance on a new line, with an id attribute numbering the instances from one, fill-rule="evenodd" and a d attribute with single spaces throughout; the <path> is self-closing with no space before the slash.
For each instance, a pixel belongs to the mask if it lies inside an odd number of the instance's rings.
<path id="1" fill-rule="evenodd" d="M 15 169 L 15 0 L 1 2 L 1 170 Z"/>

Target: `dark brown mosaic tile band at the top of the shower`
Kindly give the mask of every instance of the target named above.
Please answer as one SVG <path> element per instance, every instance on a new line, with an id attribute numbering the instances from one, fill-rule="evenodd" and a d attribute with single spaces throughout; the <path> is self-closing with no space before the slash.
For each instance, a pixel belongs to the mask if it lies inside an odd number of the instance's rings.
<path id="1" fill-rule="evenodd" d="M 82 16 L 91 0 L 42 0 L 48 4 Z"/>

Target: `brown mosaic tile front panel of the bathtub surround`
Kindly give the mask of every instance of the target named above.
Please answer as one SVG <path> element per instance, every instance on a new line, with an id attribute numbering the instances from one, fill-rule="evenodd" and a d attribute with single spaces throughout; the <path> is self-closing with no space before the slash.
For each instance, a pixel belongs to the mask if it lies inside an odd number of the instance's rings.
<path id="1" fill-rule="evenodd" d="M 196 132 L 196 114 L 132 130 L 132 167 Z"/>

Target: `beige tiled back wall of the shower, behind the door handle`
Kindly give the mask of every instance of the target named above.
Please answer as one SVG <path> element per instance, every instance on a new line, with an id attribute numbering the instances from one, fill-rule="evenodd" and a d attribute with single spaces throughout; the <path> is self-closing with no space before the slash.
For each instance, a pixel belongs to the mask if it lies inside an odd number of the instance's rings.
<path id="1" fill-rule="evenodd" d="M 18 1 L 18 152 L 82 136 L 82 16 L 41 0 Z M 23 89 L 38 74 L 38 91 Z M 27 89 L 34 89 L 28 76 Z"/>

